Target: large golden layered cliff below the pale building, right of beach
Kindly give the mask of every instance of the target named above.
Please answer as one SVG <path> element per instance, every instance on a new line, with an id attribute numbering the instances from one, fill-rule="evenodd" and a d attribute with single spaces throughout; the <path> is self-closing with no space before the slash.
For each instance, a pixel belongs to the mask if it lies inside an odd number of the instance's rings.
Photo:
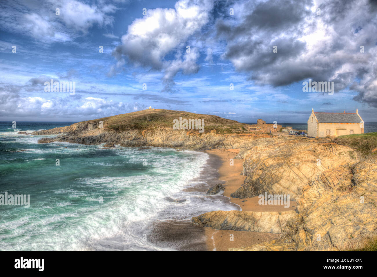
<path id="1" fill-rule="evenodd" d="M 361 158 L 331 141 L 253 144 L 243 151 L 248 178 L 233 195 L 290 194 L 298 214 L 287 220 L 280 239 L 231 250 L 349 250 L 375 234 L 376 156 Z"/>

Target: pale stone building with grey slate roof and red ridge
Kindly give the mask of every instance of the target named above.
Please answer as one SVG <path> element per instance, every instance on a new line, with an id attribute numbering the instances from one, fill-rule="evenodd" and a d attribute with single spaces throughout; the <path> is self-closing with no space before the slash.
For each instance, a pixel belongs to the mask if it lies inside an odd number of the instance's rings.
<path id="1" fill-rule="evenodd" d="M 330 137 L 364 133 L 364 121 L 356 113 L 314 113 L 308 119 L 308 137 Z"/>

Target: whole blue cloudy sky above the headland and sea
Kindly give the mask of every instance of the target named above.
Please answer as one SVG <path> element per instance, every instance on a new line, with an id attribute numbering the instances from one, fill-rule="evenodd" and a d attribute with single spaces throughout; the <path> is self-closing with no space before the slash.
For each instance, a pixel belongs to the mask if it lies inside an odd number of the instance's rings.
<path id="1" fill-rule="evenodd" d="M 152 106 L 278 123 L 358 108 L 376 122 L 376 15 L 369 0 L 2 0 L 0 121 Z M 334 93 L 303 91 L 310 79 Z"/>

